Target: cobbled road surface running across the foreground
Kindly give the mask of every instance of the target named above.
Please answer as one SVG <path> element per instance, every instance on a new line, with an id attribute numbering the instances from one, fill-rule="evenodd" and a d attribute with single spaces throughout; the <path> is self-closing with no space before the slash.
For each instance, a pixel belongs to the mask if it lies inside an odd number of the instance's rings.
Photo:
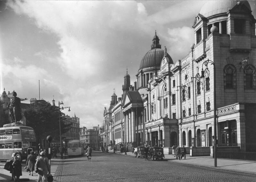
<path id="1" fill-rule="evenodd" d="M 256 181 L 256 175 L 93 151 L 61 161 L 55 181 Z"/>

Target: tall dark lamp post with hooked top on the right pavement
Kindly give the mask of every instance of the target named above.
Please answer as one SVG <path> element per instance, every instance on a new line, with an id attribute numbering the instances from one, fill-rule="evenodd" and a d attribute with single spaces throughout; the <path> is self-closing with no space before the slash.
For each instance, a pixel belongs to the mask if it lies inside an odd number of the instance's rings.
<path id="1" fill-rule="evenodd" d="M 214 118 L 214 167 L 217 167 L 217 121 L 216 121 L 216 79 L 215 79 L 215 64 L 211 60 L 206 60 L 203 65 L 208 69 L 208 64 L 213 65 L 213 118 Z M 204 69 L 202 65 L 201 78 L 204 78 Z"/>

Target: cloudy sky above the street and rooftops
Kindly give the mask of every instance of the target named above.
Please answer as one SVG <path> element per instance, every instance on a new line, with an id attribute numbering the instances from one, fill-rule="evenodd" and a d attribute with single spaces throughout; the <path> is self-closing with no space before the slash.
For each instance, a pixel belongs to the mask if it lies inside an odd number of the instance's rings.
<path id="1" fill-rule="evenodd" d="M 111 95 L 131 84 L 155 35 L 173 61 L 194 43 L 192 25 L 206 1 L 0 1 L 0 91 L 44 99 L 102 124 Z M 255 1 L 249 1 L 256 17 Z M 40 87 L 39 87 L 40 80 Z"/>

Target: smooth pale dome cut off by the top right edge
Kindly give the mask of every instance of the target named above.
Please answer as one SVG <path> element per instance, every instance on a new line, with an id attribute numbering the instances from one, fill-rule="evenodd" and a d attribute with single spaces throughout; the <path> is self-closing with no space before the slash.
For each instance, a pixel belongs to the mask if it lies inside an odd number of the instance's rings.
<path id="1" fill-rule="evenodd" d="M 249 10 L 251 10 L 251 6 L 248 3 L 248 1 L 208 1 L 203 5 L 203 7 L 200 10 L 200 14 L 204 17 L 210 17 L 212 15 L 220 14 L 220 13 L 226 13 L 229 10 L 231 10 L 238 2 L 239 4 L 244 4 Z"/>

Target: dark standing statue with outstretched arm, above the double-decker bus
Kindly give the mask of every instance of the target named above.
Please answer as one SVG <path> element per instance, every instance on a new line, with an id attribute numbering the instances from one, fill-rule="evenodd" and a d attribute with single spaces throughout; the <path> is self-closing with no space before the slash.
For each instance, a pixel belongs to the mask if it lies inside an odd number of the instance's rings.
<path id="1" fill-rule="evenodd" d="M 9 116 L 12 119 L 11 123 L 17 123 L 21 119 L 21 108 L 20 101 L 27 100 L 27 98 L 18 98 L 17 93 L 15 91 L 12 92 L 11 100 L 7 106 L 9 110 Z"/>

